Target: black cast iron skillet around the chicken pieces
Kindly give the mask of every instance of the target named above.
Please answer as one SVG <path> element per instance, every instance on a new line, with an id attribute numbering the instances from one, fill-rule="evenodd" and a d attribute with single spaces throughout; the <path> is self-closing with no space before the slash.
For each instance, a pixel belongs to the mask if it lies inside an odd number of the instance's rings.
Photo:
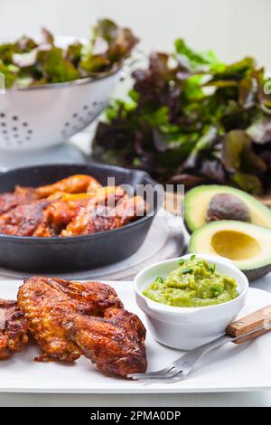
<path id="1" fill-rule="evenodd" d="M 14 190 L 16 184 L 37 187 L 52 184 L 70 175 L 92 175 L 102 185 L 107 177 L 116 184 L 152 184 L 142 171 L 109 165 L 39 165 L 0 174 L 0 193 Z M 145 237 L 160 205 L 154 197 L 154 213 L 112 231 L 69 238 L 35 238 L 0 234 L 0 267 L 30 273 L 53 273 L 95 269 L 124 260 L 134 254 Z"/>

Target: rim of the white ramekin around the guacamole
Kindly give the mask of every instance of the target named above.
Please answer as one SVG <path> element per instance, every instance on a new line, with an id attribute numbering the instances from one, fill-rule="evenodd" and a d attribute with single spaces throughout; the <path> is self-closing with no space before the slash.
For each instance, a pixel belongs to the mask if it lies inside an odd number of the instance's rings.
<path id="1" fill-rule="evenodd" d="M 156 301 L 154 301 L 151 298 L 145 297 L 145 295 L 139 290 L 138 288 L 138 280 L 141 278 L 141 276 L 149 269 L 153 269 L 157 266 L 161 266 L 163 264 L 169 264 L 169 263 L 176 263 L 178 260 L 181 259 L 187 259 L 190 258 L 192 255 L 196 255 L 197 257 L 203 259 L 203 260 L 209 260 L 211 259 L 212 262 L 214 263 L 223 263 L 226 264 L 229 269 L 234 269 L 235 272 L 238 273 L 238 277 L 240 278 L 240 281 L 242 282 L 242 285 L 244 286 L 243 290 L 238 294 L 238 297 L 230 299 L 229 301 L 226 301 L 225 303 L 220 303 L 220 304 L 214 304 L 211 306 L 203 306 L 203 307 L 176 307 L 176 306 L 167 306 L 166 304 L 162 304 L 162 303 L 158 303 Z M 138 297 L 141 297 L 142 299 L 145 300 L 145 303 L 147 304 L 147 306 L 156 311 L 156 312 L 163 312 L 163 313 L 167 313 L 167 314 L 173 314 L 173 315 L 180 315 L 182 316 L 183 314 L 192 314 L 195 312 L 200 312 L 201 310 L 207 311 L 207 309 L 209 310 L 215 310 L 218 308 L 225 308 L 225 306 L 229 306 L 230 304 L 234 304 L 237 303 L 238 300 L 241 297 L 245 297 L 247 292 L 248 292 L 248 278 L 247 276 L 240 270 L 238 269 L 231 260 L 225 258 L 225 257 L 221 257 L 219 255 L 212 255 L 212 254 L 201 254 L 201 253 L 189 253 L 189 254 L 185 254 L 182 255 L 181 257 L 175 257 L 173 259 L 169 259 L 169 260 L 163 260 L 163 261 L 156 261 L 154 264 L 145 267 L 145 269 L 141 270 L 139 273 L 137 273 L 137 275 L 135 276 L 135 280 L 134 280 L 134 289 L 135 289 L 135 293 Z"/>

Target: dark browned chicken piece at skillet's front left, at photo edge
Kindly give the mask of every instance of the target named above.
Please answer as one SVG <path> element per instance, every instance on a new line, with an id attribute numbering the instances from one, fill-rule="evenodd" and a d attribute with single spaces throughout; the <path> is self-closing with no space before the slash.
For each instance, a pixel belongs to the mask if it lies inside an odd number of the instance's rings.
<path id="1" fill-rule="evenodd" d="M 43 210 L 47 201 L 35 201 L 19 205 L 0 216 L 0 233 L 16 236 L 33 236 L 34 231 L 43 220 Z"/>

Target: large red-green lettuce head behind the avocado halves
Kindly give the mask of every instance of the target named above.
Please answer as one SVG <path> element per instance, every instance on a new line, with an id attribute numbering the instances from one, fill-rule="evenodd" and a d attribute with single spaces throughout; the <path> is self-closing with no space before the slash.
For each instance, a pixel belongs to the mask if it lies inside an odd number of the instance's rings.
<path id="1" fill-rule="evenodd" d="M 179 39 L 172 54 L 152 53 L 133 79 L 129 100 L 114 101 L 98 124 L 98 161 L 188 187 L 270 188 L 271 82 L 253 58 L 226 64 Z"/>

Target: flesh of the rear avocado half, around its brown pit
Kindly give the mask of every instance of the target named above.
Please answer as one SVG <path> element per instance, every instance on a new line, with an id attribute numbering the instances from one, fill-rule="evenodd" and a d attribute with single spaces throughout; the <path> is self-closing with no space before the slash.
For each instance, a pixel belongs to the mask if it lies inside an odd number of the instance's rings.
<path id="1" fill-rule="evenodd" d="M 184 223 L 190 233 L 206 223 L 210 201 L 217 194 L 231 194 L 238 197 L 242 203 L 248 206 L 252 224 L 271 229 L 271 210 L 266 205 L 257 201 L 250 194 L 234 187 L 209 184 L 191 189 L 184 197 Z"/>

